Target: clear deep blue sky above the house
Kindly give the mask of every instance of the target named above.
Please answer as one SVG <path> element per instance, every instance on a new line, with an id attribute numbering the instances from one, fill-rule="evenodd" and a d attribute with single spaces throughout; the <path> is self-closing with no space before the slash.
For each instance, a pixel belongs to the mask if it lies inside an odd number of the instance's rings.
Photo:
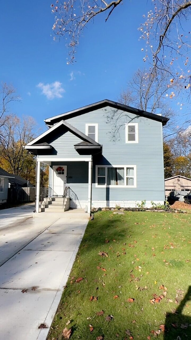
<path id="1" fill-rule="evenodd" d="M 116 100 L 138 68 L 142 15 L 150 1 L 124 0 L 105 23 L 89 24 L 80 39 L 76 62 L 67 65 L 64 40 L 53 40 L 51 1 L 11 1 L 0 12 L 0 80 L 12 83 L 22 100 L 12 111 L 44 119 L 103 99 Z"/>

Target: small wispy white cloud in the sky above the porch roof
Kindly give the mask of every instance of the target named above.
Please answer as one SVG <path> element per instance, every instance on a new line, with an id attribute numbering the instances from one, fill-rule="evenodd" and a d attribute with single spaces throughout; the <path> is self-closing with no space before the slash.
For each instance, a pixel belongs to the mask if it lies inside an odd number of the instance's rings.
<path id="1" fill-rule="evenodd" d="M 36 86 L 42 90 L 42 94 L 45 95 L 47 99 L 54 99 L 63 97 L 62 94 L 65 92 L 65 90 L 61 85 L 62 83 L 56 81 L 51 84 L 39 83 Z"/>

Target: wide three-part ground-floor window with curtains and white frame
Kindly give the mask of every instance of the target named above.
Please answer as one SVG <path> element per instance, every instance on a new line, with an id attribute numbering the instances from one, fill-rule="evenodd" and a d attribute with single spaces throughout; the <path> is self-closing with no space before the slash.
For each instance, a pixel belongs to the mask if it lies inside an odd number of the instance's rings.
<path id="1" fill-rule="evenodd" d="M 96 166 L 96 187 L 136 188 L 136 165 Z"/>

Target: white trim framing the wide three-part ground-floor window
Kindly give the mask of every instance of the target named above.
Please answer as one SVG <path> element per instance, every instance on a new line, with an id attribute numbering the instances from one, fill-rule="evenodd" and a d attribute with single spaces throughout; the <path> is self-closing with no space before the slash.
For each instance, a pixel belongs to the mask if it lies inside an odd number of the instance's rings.
<path id="1" fill-rule="evenodd" d="M 98 185 L 98 168 L 124 168 L 124 185 L 107 185 L 107 169 L 105 169 L 105 185 Z M 127 168 L 134 168 L 134 185 L 126 185 Z M 103 176 L 102 176 L 103 177 Z M 96 188 L 125 188 L 137 187 L 137 166 L 136 165 L 96 165 L 95 166 L 95 187 Z"/>

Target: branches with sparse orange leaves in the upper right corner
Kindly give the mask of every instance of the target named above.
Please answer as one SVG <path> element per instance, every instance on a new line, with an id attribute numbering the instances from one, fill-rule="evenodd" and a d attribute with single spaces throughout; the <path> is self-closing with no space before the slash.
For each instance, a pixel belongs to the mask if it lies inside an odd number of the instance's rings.
<path id="1" fill-rule="evenodd" d="M 141 38 L 146 42 L 143 61 L 152 55 L 153 72 L 168 72 L 169 82 L 176 82 L 190 93 L 189 54 L 191 43 L 188 23 L 191 14 L 190 0 L 154 0 L 154 8 L 144 15 L 145 22 L 139 27 Z M 143 50 L 143 49 L 142 49 Z"/>

